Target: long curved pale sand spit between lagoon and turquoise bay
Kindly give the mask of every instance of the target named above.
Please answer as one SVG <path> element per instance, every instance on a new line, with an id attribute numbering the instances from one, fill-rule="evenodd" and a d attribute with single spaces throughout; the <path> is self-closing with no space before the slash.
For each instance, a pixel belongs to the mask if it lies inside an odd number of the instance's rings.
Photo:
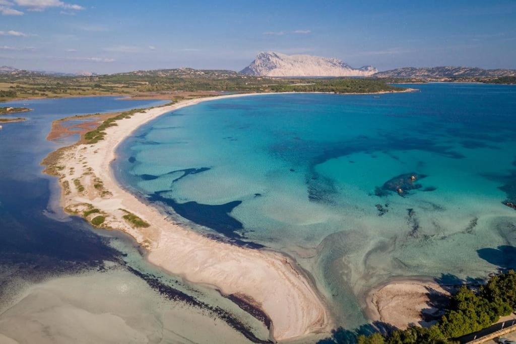
<path id="1" fill-rule="evenodd" d="M 213 240 L 171 222 L 123 190 L 110 168 L 118 145 L 140 125 L 164 113 L 205 101 L 263 94 L 205 97 L 143 110 L 108 127 L 104 140 L 56 151 L 54 161 L 45 162 L 50 164 L 45 171 L 59 177 L 60 203 L 69 214 L 131 235 L 148 250 L 150 263 L 166 271 L 245 299 L 270 318 L 271 337 L 288 340 L 329 332 L 332 325 L 325 301 L 293 259 Z M 135 225 L 126 219 L 129 214 L 143 222 Z M 94 221 L 99 217 L 101 223 Z"/>

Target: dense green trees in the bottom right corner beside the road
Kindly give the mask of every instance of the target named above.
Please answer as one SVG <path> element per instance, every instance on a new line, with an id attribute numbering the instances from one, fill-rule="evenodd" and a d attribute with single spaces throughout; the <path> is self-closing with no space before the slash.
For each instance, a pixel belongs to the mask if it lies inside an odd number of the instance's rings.
<path id="1" fill-rule="evenodd" d="M 425 329 L 411 326 L 396 330 L 387 336 L 373 334 L 359 336 L 360 344 L 440 344 L 449 343 L 449 338 L 458 338 L 489 327 L 501 316 L 516 309 L 516 273 L 509 270 L 497 274 L 476 292 L 466 286 L 451 297 L 445 314 L 437 323 Z"/>

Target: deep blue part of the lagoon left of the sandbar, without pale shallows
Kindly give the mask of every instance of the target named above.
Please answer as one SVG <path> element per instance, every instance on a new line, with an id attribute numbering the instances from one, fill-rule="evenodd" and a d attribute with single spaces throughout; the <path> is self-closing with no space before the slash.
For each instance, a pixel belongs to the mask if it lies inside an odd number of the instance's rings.
<path id="1" fill-rule="evenodd" d="M 46 140 L 53 120 L 97 112 L 112 112 L 163 104 L 122 101 L 117 97 L 26 100 L 0 106 L 28 107 L 12 114 L 27 118 L 0 130 L 0 270 L 2 275 L 38 280 L 61 272 L 99 267 L 120 253 L 91 231 L 83 220 L 68 217 L 49 205 L 56 179 L 43 175 L 41 160 L 61 143 Z M 0 283 L 0 296 L 6 290 Z"/>

